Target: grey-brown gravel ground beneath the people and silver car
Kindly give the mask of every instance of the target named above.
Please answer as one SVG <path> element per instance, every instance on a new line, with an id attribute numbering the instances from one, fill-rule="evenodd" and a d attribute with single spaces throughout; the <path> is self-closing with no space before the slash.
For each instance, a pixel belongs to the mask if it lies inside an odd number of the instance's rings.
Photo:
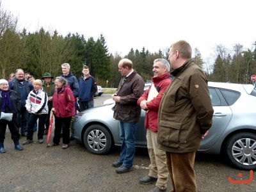
<path id="1" fill-rule="evenodd" d="M 111 95 L 95 97 L 95 106 Z M 26 138 L 20 138 L 20 143 Z M 46 137 L 44 137 L 44 141 Z M 46 143 L 25 145 L 24 150 L 13 147 L 10 132 L 6 132 L 4 146 L 6 153 L 0 154 L 0 191 L 149 191 L 154 184 L 143 185 L 138 182 L 148 174 L 147 150 L 138 148 L 134 158 L 134 171 L 115 173 L 111 166 L 118 159 L 120 148 L 104 156 L 90 154 L 76 141 L 63 150 L 58 147 L 47 148 Z M 249 184 L 231 184 L 228 177 L 237 180 L 249 179 L 249 172 L 237 170 L 226 163 L 221 156 L 196 154 L 196 180 L 198 191 L 256 191 L 256 181 Z M 239 177 L 238 173 L 243 173 Z M 186 177 L 184 175 L 184 177 Z M 172 189 L 170 179 L 168 191 Z"/>

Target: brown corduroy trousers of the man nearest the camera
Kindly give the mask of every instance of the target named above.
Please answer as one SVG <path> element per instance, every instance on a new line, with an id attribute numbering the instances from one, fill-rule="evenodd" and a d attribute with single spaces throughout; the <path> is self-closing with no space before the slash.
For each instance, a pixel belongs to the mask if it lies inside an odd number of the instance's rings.
<path id="1" fill-rule="evenodd" d="M 173 192 L 196 192 L 195 156 L 196 152 L 184 154 L 166 152 L 166 164 Z"/>

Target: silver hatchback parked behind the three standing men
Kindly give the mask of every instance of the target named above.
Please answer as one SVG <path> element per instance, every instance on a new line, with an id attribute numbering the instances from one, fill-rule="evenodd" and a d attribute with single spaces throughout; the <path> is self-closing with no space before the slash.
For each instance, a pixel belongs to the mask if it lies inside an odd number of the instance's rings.
<path id="1" fill-rule="evenodd" d="M 214 108 L 213 123 L 198 152 L 223 154 L 237 168 L 255 169 L 256 91 L 253 85 L 209 82 L 208 87 Z M 93 154 L 106 154 L 113 145 L 121 145 L 113 106 L 110 99 L 102 106 L 82 111 L 72 124 L 72 136 Z M 136 147 L 147 147 L 144 117 L 145 111 L 141 110 Z"/>

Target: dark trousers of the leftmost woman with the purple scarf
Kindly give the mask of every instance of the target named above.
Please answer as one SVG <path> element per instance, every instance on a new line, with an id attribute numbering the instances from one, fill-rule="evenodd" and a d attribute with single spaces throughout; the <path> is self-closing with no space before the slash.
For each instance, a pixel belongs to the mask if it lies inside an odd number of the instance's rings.
<path id="1" fill-rule="evenodd" d="M 20 134 L 19 134 L 19 122 L 17 115 L 13 115 L 12 121 L 8 122 L 7 120 L 0 120 L 0 141 L 4 141 L 5 139 L 5 132 L 6 132 L 6 127 L 9 127 L 11 135 L 12 135 L 12 140 L 19 140 L 20 139 Z"/>

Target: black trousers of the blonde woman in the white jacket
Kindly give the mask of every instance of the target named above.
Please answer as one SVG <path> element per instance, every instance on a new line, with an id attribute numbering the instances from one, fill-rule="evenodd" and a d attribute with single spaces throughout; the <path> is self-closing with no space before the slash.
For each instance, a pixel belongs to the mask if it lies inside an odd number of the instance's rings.
<path id="1" fill-rule="evenodd" d="M 47 114 L 35 115 L 35 113 L 30 113 L 29 119 L 28 119 L 27 140 L 33 140 L 34 125 L 35 125 L 37 119 L 39 119 L 38 120 L 37 138 L 38 138 L 38 140 L 40 140 L 44 137 L 44 125 L 45 125 L 46 117 L 47 117 Z"/>

